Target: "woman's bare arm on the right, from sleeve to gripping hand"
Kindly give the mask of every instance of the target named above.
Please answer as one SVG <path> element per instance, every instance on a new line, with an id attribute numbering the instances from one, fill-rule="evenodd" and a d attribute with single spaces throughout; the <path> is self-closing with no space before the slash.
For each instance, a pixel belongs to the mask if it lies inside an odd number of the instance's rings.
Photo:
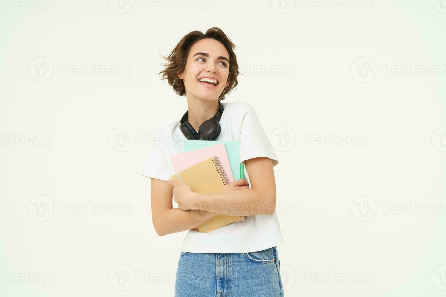
<path id="1" fill-rule="evenodd" d="M 185 183 L 169 180 L 173 200 L 182 210 L 200 209 L 228 216 L 272 215 L 276 210 L 276 180 L 273 162 L 267 157 L 245 161 L 251 189 L 201 194 Z"/>

